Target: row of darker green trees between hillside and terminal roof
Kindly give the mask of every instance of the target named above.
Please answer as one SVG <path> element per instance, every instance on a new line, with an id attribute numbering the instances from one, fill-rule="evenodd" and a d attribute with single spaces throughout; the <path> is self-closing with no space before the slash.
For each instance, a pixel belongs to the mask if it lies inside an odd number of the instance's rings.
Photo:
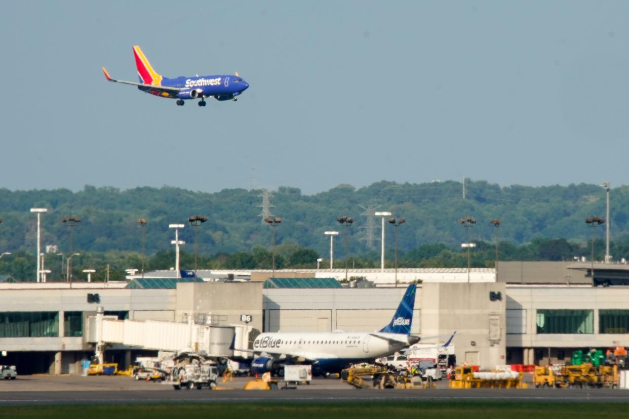
<path id="1" fill-rule="evenodd" d="M 271 269 L 272 248 L 253 246 L 250 251 L 234 253 L 198 254 L 198 269 Z M 611 253 L 629 251 L 629 240 L 611 242 Z M 345 261 L 352 268 L 379 268 L 379 253 L 370 252 L 360 255 L 341 256 L 342 249 L 334 259 L 335 268 L 343 268 Z M 386 254 L 386 267 L 394 267 L 394 249 Z M 501 261 L 574 261 L 574 258 L 589 258 L 591 249 L 581 243 L 566 239 L 534 239 L 532 242 L 516 246 L 511 242 L 499 242 L 499 260 Z M 603 259 L 605 243 L 603 239 L 594 241 L 595 258 Z M 327 256 L 327 254 L 325 255 Z M 281 244 L 275 249 L 276 269 L 301 268 L 316 269 L 317 259 L 321 255 L 313 249 L 301 248 L 296 244 Z M 48 281 L 65 281 L 62 267 L 64 258 L 56 254 L 47 254 L 44 258 L 46 269 L 52 272 Z M 470 266 L 474 268 L 493 268 L 496 260 L 496 243 L 479 241 L 470 251 Z M 24 250 L 0 258 L 0 275 L 11 275 L 21 281 L 35 281 L 35 255 Z M 67 263 L 67 261 L 66 261 Z M 145 258 L 145 271 L 171 269 L 175 263 L 174 249 L 162 250 Z M 194 253 L 182 251 L 181 269 L 194 269 Z M 323 258 L 321 268 L 328 268 L 329 259 Z M 467 251 L 460 248 L 448 248 L 445 244 L 422 244 L 404 253 L 398 252 L 399 268 L 460 268 L 467 266 Z M 131 251 L 87 252 L 75 256 L 72 263 L 74 281 L 85 281 L 83 269 L 96 269 L 93 281 L 125 280 L 126 269 L 142 267 L 142 254 Z"/>

